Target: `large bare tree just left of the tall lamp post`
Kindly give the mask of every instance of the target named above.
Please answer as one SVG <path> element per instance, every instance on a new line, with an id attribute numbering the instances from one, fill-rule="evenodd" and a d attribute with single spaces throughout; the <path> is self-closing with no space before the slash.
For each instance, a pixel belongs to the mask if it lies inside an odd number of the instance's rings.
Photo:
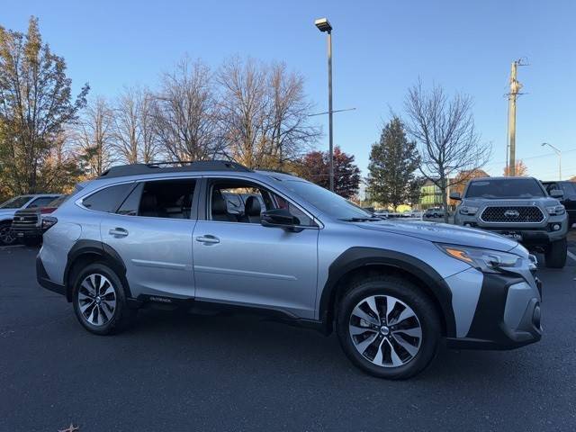
<path id="1" fill-rule="evenodd" d="M 303 79 L 283 63 L 232 58 L 220 69 L 221 114 L 232 157 L 251 167 L 282 167 L 320 136 L 309 122 Z"/>

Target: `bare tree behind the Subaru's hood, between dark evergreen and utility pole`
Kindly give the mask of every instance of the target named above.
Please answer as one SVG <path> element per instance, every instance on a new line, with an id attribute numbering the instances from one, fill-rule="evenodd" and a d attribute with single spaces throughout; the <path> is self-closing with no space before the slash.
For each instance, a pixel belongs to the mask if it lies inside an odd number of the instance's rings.
<path id="1" fill-rule="evenodd" d="M 482 144 L 476 132 L 472 105 L 467 94 L 449 99 L 441 86 L 426 91 L 420 82 L 409 89 L 406 97 L 406 129 L 419 143 L 419 170 L 440 189 L 446 209 L 449 187 L 469 178 L 456 174 L 473 173 L 491 157 L 490 144 Z"/>

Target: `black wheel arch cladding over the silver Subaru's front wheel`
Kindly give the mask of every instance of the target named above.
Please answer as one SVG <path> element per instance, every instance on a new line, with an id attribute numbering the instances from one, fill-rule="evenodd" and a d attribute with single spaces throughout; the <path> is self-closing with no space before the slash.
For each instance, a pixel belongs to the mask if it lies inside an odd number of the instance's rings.
<path id="1" fill-rule="evenodd" d="M 446 324 L 446 336 L 455 336 L 455 315 L 452 308 L 452 292 L 437 271 L 418 258 L 401 252 L 376 247 L 350 247 L 329 266 L 329 277 L 320 296 L 320 320 L 329 325 L 333 320 L 334 302 L 339 282 L 343 277 L 363 267 L 386 266 L 409 273 L 428 288 L 442 313 Z"/>

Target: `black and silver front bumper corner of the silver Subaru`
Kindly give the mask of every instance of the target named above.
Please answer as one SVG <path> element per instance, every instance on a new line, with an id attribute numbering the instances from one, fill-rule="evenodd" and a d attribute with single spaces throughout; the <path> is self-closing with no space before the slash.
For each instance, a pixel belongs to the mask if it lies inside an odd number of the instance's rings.
<path id="1" fill-rule="evenodd" d="M 542 338 L 542 284 L 514 275 L 485 274 L 473 322 L 465 338 L 447 338 L 461 349 L 514 349 Z"/>

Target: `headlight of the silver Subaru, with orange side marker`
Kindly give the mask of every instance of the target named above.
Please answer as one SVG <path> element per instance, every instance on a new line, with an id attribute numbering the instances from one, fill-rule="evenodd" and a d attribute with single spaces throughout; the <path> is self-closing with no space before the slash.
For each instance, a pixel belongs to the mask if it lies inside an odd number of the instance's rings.
<path id="1" fill-rule="evenodd" d="M 446 255 L 464 261 L 464 263 L 477 268 L 483 273 L 498 273 L 506 267 L 517 265 L 518 255 L 500 252 L 499 250 L 481 249 L 480 247 L 463 247 L 455 245 L 437 244 Z"/>

